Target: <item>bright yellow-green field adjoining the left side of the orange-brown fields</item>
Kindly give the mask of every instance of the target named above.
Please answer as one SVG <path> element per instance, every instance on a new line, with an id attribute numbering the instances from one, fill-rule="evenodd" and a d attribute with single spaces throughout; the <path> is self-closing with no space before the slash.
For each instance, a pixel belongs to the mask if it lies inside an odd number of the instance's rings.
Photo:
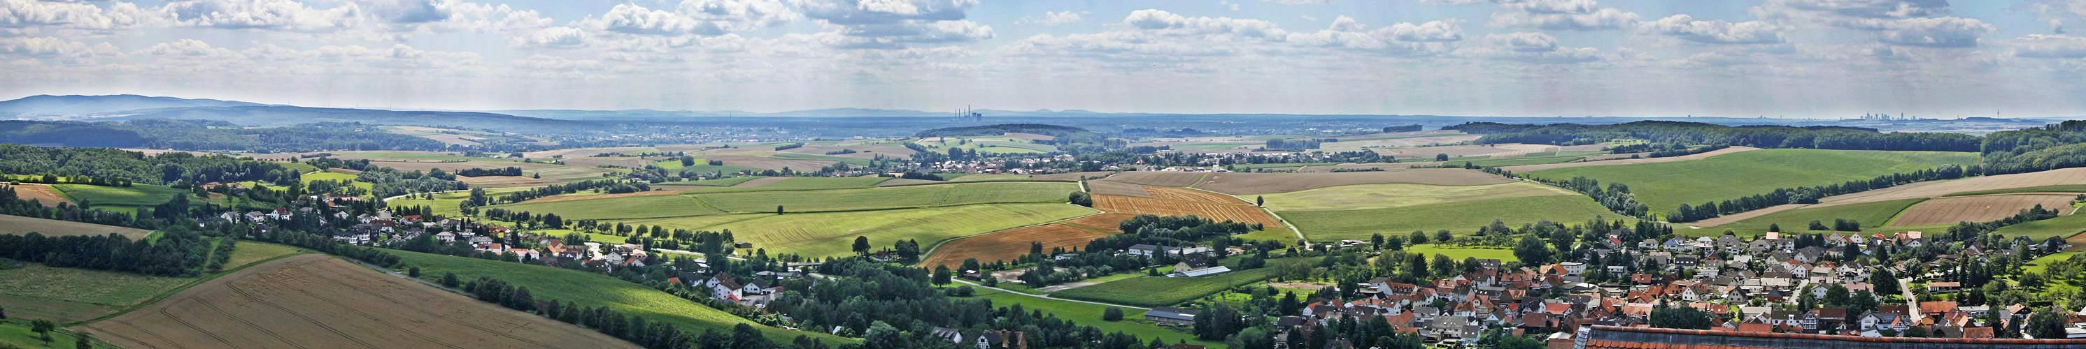
<path id="1" fill-rule="evenodd" d="M 688 216 L 630 222 L 690 231 L 728 229 L 734 237 L 751 241 L 753 247 L 768 249 L 770 256 L 801 253 L 805 258 L 826 258 L 851 256 L 853 251 L 849 249 L 849 243 L 853 243 L 855 237 L 870 237 L 870 245 L 876 245 L 878 249 L 891 247 L 891 243 L 899 239 L 918 239 L 920 245 L 926 247 L 945 239 L 1056 222 L 1087 214 L 1093 214 L 1093 210 L 1070 204 L 993 204 L 780 216 Z"/>

